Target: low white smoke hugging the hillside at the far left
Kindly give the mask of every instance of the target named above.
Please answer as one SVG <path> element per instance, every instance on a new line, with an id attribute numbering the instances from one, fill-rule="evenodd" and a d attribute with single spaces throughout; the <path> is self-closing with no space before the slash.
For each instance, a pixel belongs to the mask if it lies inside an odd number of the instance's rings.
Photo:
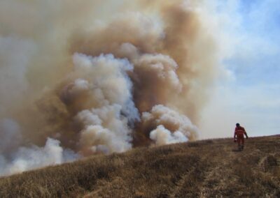
<path id="1" fill-rule="evenodd" d="M 12 119 L 0 121 L 0 176 L 24 172 L 30 169 L 57 165 L 77 160 L 80 156 L 59 146 L 56 139 L 48 138 L 45 146 L 26 144 L 22 138 L 20 125 Z"/>

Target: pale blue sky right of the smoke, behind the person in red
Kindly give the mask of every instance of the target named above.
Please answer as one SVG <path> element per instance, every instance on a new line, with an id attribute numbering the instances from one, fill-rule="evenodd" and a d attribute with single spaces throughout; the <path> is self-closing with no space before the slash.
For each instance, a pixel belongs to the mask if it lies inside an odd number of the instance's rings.
<path id="1" fill-rule="evenodd" d="M 230 137 L 235 123 L 251 137 L 280 134 L 280 1 L 215 2 L 228 76 L 204 109 L 201 137 Z"/>

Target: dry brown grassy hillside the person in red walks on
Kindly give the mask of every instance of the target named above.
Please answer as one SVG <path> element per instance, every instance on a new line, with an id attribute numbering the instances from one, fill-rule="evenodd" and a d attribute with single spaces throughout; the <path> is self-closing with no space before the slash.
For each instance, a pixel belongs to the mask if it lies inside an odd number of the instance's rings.
<path id="1" fill-rule="evenodd" d="M 209 139 L 0 178 L 0 197 L 280 197 L 280 135 Z"/>

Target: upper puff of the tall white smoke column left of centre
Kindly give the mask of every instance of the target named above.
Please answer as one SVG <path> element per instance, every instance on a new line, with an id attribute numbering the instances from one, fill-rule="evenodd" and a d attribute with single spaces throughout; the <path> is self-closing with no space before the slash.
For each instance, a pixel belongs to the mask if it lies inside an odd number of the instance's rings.
<path id="1" fill-rule="evenodd" d="M 127 76 L 133 66 L 127 59 L 116 59 L 112 54 L 92 57 L 76 53 L 73 63 L 72 75 L 80 78 L 75 79 L 70 92 L 86 90 L 92 107 L 118 104 L 129 119 L 139 118 L 132 100 L 132 82 Z"/>

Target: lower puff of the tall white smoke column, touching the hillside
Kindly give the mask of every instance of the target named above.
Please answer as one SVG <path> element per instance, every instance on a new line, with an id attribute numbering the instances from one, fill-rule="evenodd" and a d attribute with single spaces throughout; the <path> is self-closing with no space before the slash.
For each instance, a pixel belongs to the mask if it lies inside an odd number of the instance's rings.
<path id="1" fill-rule="evenodd" d="M 120 105 L 109 105 L 100 109 L 84 110 L 77 119 L 83 121 L 85 129 L 80 132 L 82 151 L 104 153 L 123 152 L 132 148 L 131 130 L 127 118 L 121 115 Z"/>

